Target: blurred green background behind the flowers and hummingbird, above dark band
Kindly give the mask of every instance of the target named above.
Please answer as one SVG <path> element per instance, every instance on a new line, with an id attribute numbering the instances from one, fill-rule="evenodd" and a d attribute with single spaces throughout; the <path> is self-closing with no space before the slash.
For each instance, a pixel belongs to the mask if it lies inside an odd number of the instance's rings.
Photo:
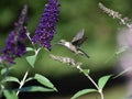
<path id="1" fill-rule="evenodd" d="M 114 68 L 117 62 L 117 57 L 113 56 L 117 51 L 116 35 L 122 25 L 119 24 L 118 20 L 113 20 L 103 13 L 98 8 L 98 3 L 102 2 L 106 7 L 119 11 L 124 16 L 132 18 L 132 0 L 59 0 L 59 2 L 61 15 L 56 26 L 56 34 L 52 41 L 52 51 L 46 52 L 42 50 L 40 52 L 35 68 L 32 69 L 31 75 L 40 73 L 46 77 L 59 79 L 78 74 L 76 68 L 51 59 L 48 56 L 51 53 L 82 62 L 82 67 L 91 69 L 91 73 Z M 29 4 L 28 29 L 33 35 L 47 0 L 0 0 L 0 50 L 4 46 L 10 31 L 13 30 L 13 24 L 18 20 L 24 3 Z M 61 45 L 55 45 L 61 38 L 72 41 L 74 35 L 81 29 L 85 29 L 85 35 L 88 37 L 81 47 L 90 56 L 89 59 L 84 56 L 74 55 Z M 23 76 L 29 64 L 25 58 L 18 58 L 12 75 Z M 120 88 L 118 89 L 120 90 Z M 108 94 L 106 99 L 116 99 L 109 97 L 111 96 Z"/>

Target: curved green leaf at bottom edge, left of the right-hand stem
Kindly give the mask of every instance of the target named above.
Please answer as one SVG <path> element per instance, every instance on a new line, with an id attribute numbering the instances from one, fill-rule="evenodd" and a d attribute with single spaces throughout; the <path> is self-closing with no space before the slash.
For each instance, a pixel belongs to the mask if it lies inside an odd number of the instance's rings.
<path id="1" fill-rule="evenodd" d="M 86 94 L 89 94 L 89 92 L 95 92 L 95 91 L 97 91 L 97 90 L 96 90 L 96 89 L 82 89 L 82 90 L 76 92 L 76 94 L 72 97 L 72 99 L 76 99 L 76 98 L 78 98 L 78 97 L 80 97 L 80 96 L 82 96 L 82 95 L 86 95 Z"/>

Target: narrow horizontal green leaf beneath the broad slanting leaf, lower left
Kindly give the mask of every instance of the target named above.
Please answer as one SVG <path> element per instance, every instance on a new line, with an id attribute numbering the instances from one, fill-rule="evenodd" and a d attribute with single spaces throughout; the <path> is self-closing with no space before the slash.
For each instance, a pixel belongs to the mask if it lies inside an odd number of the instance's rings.
<path id="1" fill-rule="evenodd" d="M 55 91 L 54 89 L 41 87 L 41 86 L 30 86 L 30 87 L 23 87 L 20 89 L 20 91 L 26 91 L 26 92 L 35 92 L 35 91 L 41 91 L 41 92 L 48 92 L 48 91 Z"/>

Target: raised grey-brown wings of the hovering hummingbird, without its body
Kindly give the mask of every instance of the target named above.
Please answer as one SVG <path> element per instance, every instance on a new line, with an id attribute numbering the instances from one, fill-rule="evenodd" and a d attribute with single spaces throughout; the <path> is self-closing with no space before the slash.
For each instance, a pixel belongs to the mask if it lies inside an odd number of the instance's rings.
<path id="1" fill-rule="evenodd" d="M 84 32 L 85 30 L 80 30 L 73 38 L 72 44 L 75 46 L 80 46 L 86 40 L 87 37 L 84 37 Z"/>

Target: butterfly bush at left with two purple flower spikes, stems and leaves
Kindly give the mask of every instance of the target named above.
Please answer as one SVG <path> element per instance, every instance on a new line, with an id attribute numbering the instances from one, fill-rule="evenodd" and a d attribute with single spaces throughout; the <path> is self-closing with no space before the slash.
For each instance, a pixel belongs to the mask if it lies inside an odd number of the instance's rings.
<path id="1" fill-rule="evenodd" d="M 4 96 L 6 98 L 9 97 L 11 99 L 19 99 L 19 94 L 21 92 L 21 89 L 25 89 L 25 91 L 57 91 L 55 86 L 43 75 L 35 74 L 34 77 L 30 77 L 29 73 L 31 70 L 31 67 L 34 67 L 36 56 L 38 54 L 38 51 L 42 48 L 41 46 L 36 50 L 35 43 L 41 43 L 42 46 L 46 47 L 48 51 L 51 50 L 51 41 L 53 40 L 53 36 L 55 34 L 55 25 L 58 21 L 58 14 L 59 14 L 59 3 L 57 0 L 48 0 L 48 3 L 46 4 L 46 8 L 44 10 L 44 13 L 42 14 L 42 19 L 40 21 L 38 26 L 36 28 L 35 35 L 31 37 L 29 34 L 30 32 L 26 29 L 28 23 L 28 6 L 24 6 L 22 9 L 22 12 L 20 14 L 19 20 L 14 23 L 14 30 L 11 31 L 9 34 L 9 37 L 7 38 L 6 46 L 3 50 L 1 50 L 0 55 L 0 98 Z M 33 47 L 25 47 L 24 41 L 29 38 Z M 11 73 L 11 65 L 15 64 L 14 59 L 16 57 L 23 56 L 25 53 L 32 51 L 35 53 L 35 55 L 26 55 L 26 61 L 29 63 L 29 68 L 26 69 L 23 78 L 19 80 L 16 77 L 9 76 Z M 15 67 L 15 66 L 13 66 Z M 45 86 L 29 86 L 24 87 L 25 82 L 31 80 L 36 80 L 41 85 Z M 7 82 L 18 82 L 19 87 L 14 90 L 9 90 L 4 85 Z M 43 82 L 42 82 L 43 81 Z M 4 91 L 6 90 L 6 91 Z"/>

